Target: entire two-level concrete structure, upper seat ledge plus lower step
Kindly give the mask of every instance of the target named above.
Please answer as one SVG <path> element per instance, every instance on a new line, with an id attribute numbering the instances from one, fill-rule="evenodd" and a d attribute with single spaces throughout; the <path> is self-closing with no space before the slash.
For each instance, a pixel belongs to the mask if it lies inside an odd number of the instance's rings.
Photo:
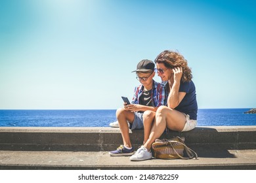
<path id="1" fill-rule="evenodd" d="M 130 131 L 137 149 L 143 131 Z M 119 128 L 0 127 L 0 169 L 256 169 L 256 126 L 196 127 L 179 135 L 199 159 L 129 161 L 110 157 L 122 144 Z"/>

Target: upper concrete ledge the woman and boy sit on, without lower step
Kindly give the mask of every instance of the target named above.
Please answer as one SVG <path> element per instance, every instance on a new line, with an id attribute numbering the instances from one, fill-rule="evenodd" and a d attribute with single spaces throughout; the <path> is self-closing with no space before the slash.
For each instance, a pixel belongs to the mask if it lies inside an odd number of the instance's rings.
<path id="1" fill-rule="evenodd" d="M 138 148 L 143 131 L 130 131 Z M 256 149 L 256 126 L 196 127 L 163 133 L 161 138 L 185 137 L 192 147 L 218 146 L 230 150 Z M 0 127 L 0 150 L 110 151 L 122 144 L 119 128 L 112 127 Z"/>

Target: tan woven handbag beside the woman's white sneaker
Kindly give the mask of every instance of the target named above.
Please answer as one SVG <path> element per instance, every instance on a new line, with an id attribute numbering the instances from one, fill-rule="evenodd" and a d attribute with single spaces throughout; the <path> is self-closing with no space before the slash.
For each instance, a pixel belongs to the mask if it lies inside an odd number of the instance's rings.
<path id="1" fill-rule="evenodd" d="M 198 154 L 194 152 L 191 148 L 188 148 L 184 144 L 184 137 L 175 137 L 173 139 L 156 139 L 152 144 L 152 149 L 154 150 L 154 157 L 160 159 L 192 159 L 198 158 Z M 188 158 L 184 157 L 184 150 Z"/>

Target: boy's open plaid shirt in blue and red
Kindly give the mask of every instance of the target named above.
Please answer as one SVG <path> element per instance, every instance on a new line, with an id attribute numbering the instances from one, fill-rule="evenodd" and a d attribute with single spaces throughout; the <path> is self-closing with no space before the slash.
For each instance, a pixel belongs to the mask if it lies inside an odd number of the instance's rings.
<path id="1" fill-rule="evenodd" d="M 142 95 L 144 91 L 144 86 L 140 84 L 140 86 L 135 87 L 135 92 L 133 95 L 132 104 L 139 104 L 139 97 Z M 165 86 L 159 82 L 153 80 L 153 88 L 152 88 L 152 106 L 160 107 L 161 105 L 167 105 L 168 93 L 165 89 Z"/>

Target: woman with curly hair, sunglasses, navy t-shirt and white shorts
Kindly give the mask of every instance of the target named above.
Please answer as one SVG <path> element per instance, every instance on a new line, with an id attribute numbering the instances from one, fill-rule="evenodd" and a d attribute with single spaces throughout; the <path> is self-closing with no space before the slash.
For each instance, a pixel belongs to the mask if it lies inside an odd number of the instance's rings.
<path id="1" fill-rule="evenodd" d="M 148 141 L 131 156 L 131 161 L 152 158 L 150 148 L 165 128 L 173 131 L 190 131 L 196 127 L 198 104 L 192 72 L 186 59 L 178 52 L 165 50 L 155 59 L 158 76 L 166 82 L 169 93 L 167 106 L 161 106 L 156 116 Z"/>

